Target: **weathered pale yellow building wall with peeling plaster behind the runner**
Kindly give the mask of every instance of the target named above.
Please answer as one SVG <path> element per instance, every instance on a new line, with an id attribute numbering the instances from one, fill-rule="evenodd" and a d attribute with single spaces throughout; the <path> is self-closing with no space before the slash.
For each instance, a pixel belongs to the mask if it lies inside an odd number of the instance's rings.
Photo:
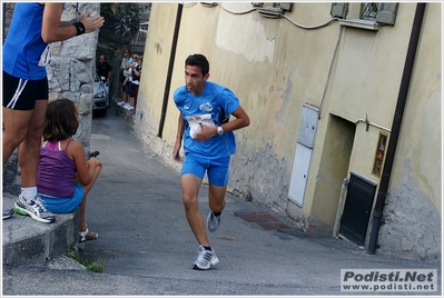
<path id="1" fill-rule="evenodd" d="M 389 137 L 416 3 L 399 3 L 395 26 L 378 31 L 328 22 L 330 7 L 328 2 L 295 2 L 293 11 L 285 13 L 288 19 L 273 19 L 256 10 L 248 12 L 249 2 L 184 3 L 174 67 L 168 73 L 178 3 L 155 2 L 135 131 L 166 162 L 180 168 L 171 159 L 178 117 L 172 92 L 184 85 L 187 56 L 205 54 L 210 63 L 209 80 L 230 88 L 251 120 L 248 128 L 235 133 L 238 149 L 231 161 L 229 191 L 287 213 L 307 230 L 330 231 L 343 178 L 353 171 L 379 183 L 372 175 L 376 143 L 381 131 Z M 359 3 L 349 3 L 349 17 L 358 10 Z M 407 171 L 423 203 L 428 201 L 441 215 L 436 167 L 441 162 L 433 165 L 433 160 L 441 161 L 441 130 L 431 121 L 441 119 L 440 11 L 441 3 L 427 3 L 417 60 L 421 66 L 414 70 L 412 103 L 406 109 L 406 118 L 415 120 L 403 122 L 397 150 L 412 162 L 407 169 L 404 157 L 396 159 L 391 188 L 405 183 Z M 171 79 L 168 90 L 167 78 Z M 165 93 L 168 101 L 160 138 Z M 304 203 L 298 207 L 288 200 L 288 188 L 304 103 L 320 112 Z M 421 117 L 413 117 L 418 110 Z M 368 130 L 365 120 L 372 123 Z M 345 138 L 352 143 L 330 148 L 341 137 L 341 126 L 347 127 Z M 434 149 L 425 149 L 435 143 Z M 341 150 L 349 156 L 335 165 L 328 158 Z"/>

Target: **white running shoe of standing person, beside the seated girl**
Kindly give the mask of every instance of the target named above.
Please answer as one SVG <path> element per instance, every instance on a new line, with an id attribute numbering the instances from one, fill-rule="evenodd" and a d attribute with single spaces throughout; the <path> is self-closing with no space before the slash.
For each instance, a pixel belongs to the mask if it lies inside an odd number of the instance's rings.
<path id="1" fill-rule="evenodd" d="M 37 195 L 32 200 L 26 200 L 23 196 L 20 195 L 19 199 L 13 205 L 13 209 L 16 212 L 23 216 L 30 216 L 40 222 L 50 224 L 56 221 L 55 215 L 43 207 L 39 195 Z"/>

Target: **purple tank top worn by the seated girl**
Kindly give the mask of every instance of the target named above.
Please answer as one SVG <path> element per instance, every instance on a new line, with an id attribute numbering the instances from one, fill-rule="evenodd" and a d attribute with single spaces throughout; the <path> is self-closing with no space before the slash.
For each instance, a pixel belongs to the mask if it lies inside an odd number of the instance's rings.
<path id="1" fill-rule="evenodd" d="M 37 190 L 46 196 L 69 198 L 73 195 L 76 163 L 68 157 L 67 148 L 60 149 L 60 142 L 45 142 L 40 147 Z"/>

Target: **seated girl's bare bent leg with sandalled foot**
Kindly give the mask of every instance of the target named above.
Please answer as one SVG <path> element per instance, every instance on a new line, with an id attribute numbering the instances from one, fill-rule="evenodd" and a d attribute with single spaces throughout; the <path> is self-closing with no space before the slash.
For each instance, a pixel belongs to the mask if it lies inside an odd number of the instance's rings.
<path id="1" fill-rule="evenodd" d="M 92 180 L 91 182 L 89 182 L 89 185 L 82 186 L 83 199 L 81 200 L 80 203 L 80 216 L 79 216 L 80 241 L 93 240 L 99 238 L 99 235 L 97 232 L 88 230 L 85 215 L 87 209 L 87 196 L 91 190 L 92 186 L 95 185 L 97 178 L 99 177 L 99 173 L 101 171 L 101 163 L 98 159 L 91 158 L 87 161 L 87 167 L 89 175 L 92 177 Z"/>

